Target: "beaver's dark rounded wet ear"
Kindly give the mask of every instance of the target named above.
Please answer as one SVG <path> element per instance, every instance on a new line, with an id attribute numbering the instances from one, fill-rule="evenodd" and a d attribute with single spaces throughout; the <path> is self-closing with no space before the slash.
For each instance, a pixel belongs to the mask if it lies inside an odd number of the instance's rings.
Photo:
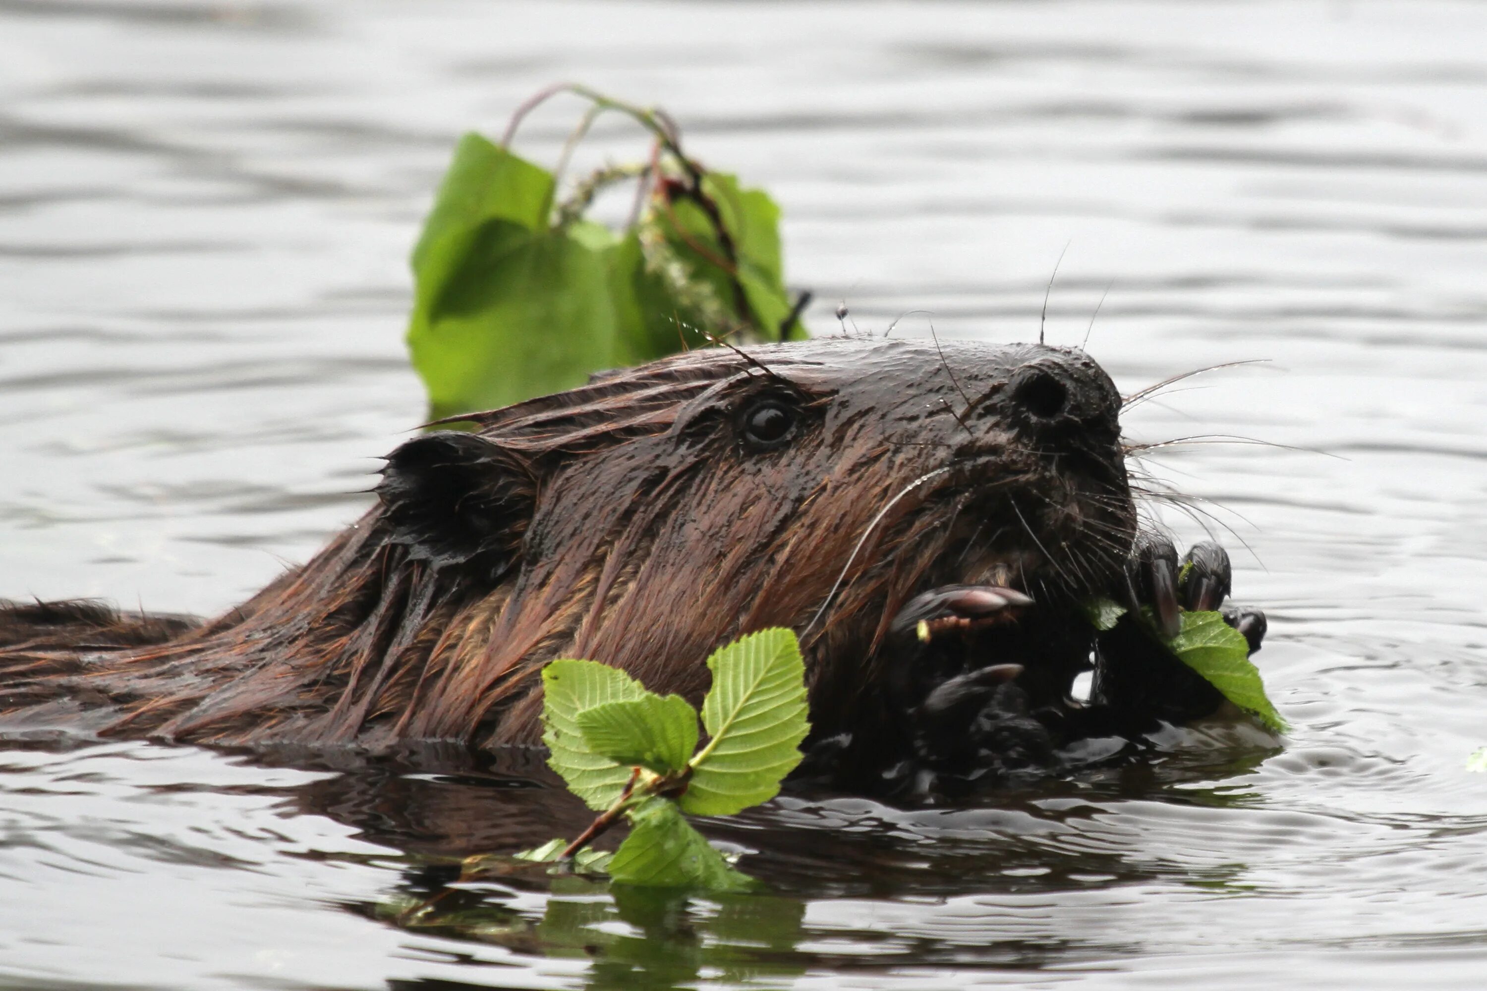
<path id="1" fill-rule="evenodd" d="M 537 502 L 523 459 L 474 434 L 442 431 L 410 440 L 387 458 L 376 487 L 391 542 L 413 560 L 474 565 L 491 578 L 520 556 Z"/>

